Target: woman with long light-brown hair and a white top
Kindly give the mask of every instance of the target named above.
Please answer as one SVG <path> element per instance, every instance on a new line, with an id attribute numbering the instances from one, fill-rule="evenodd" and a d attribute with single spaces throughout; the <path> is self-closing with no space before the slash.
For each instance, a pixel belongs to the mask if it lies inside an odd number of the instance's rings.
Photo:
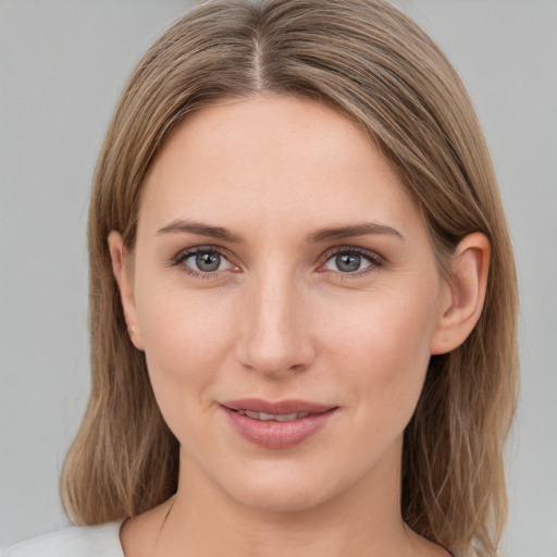
<path id="1" fill-rule="evenodd" d="M 9 556 L 496 555 L 512 252 L 470 101 L 408 17 L 196 8 L 122 95 L 89 253 L 62 494 L 106 524 Z"/>

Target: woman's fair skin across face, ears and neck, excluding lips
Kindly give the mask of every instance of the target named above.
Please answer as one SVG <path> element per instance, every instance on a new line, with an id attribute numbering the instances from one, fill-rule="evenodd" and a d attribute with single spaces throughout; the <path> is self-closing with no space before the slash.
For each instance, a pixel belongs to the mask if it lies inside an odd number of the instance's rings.
<path id="1" fill-rule="evenodd" d="M 236 238 L 161 232 L 177 220 Z M 370 222 L 388 230 L 308 240 Z M 182 122 L 145 181 L 133 253 L 116 232 L 109 245 L 131 339 L 181 444 L 175 500 L 126 521 L 127 557 L 448 555 L 403 523 L 403 432 L 430 356 L 480 315 L 483 235 L 460 243 L 442 280 L 420 212 L 368 136 L 313 101 L 261 95 Z M 219 270 L 200 273 L 191 250 Z M 338 409 L 271 449 L 223 413 L 246 397 Z"/>

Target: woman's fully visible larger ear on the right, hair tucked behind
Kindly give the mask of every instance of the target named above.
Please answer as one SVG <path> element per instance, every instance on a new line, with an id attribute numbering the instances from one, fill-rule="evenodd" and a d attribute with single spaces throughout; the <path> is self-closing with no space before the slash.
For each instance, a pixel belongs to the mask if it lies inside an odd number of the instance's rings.
<path id="1" fill-rule="evenodd" d="M 490 240 L 482 233 L 466 236 L 455 249 L 431 354 L 460 346 L 482 313 L 490 270 Z"/>

